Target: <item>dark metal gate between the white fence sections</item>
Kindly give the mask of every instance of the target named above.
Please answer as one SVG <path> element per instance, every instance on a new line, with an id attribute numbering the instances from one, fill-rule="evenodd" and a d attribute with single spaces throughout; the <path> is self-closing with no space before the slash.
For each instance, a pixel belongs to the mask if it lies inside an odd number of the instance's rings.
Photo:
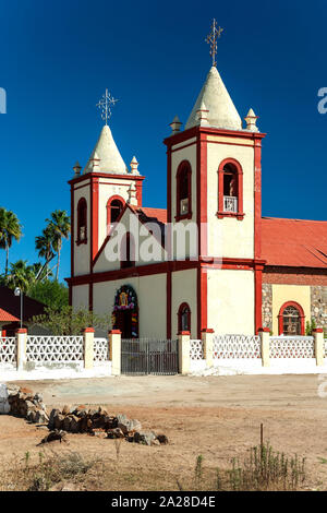
<path id="1" fill-rule="evenodd" d="M 122 374 L 177 374 L 178 341 L 122 338 Z"/>

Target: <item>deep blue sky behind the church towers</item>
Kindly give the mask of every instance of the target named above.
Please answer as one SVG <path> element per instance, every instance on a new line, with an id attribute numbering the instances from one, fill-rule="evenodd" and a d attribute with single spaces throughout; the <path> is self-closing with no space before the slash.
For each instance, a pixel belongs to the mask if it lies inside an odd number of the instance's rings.
<path id="1" fill-rule="evenodd" d="M 0 0 L 1 201 L 24 237 L 10 260 L 37 261 L 35 237 L 56 208 L 70 210 L 66 181 L 84 166 L 106 87 L 119 103 L 110 127 L 126 164 L 146 176 L 144 205 L 166 206 L 162 139 L 175 114 L 185 122 L 210 68 L 205 37 L 225 31 L 218 70 L 242 117 L 250 107 L 267 132 L 263 214 L 327 219 L 325 0 L 171 2 Z M 1 252 L 4 253 L 4 252 Z M 4 254 L 0 254 L 3 271 Z M 70 274 L 63 246 L 60 278 Z"/>

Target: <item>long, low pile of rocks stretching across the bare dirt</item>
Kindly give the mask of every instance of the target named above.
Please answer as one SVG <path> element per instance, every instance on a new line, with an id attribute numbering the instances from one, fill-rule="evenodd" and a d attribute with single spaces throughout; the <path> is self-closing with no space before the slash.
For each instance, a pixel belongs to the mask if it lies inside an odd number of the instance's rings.
<path id="1" fill-rule="evenodd" d="M 143 431 L 138 420 L 129 419 L 125 415 L 109 415 L 101 406 L 98 409 L 87 409 L 84 405 L 73 408 L 66 405 L 62 410 L 52 409 L 48 428 L 100 438 L 125 439 L 146 445 L 168 443 L 165 434 Z"/>

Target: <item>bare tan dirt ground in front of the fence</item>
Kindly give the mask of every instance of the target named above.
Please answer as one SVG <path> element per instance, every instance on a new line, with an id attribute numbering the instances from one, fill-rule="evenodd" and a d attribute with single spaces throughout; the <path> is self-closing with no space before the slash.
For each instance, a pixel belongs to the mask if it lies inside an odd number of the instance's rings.
<path id="1" fill-rule="evenodd" d="M 48 409 L 64 404 L 102 405 L 109 414 L 137 418 L 145 429 L 168 437 L 168 445 L 122 442 L 118 450 L 113 440 L 68 434 L 69 444 L 43 446 L 46 454 L 77 451 L 101 456 L 112 469 L 119 467 L 116 480 L 101 481 L 97 475 L 96 489 L 177 490 L 178 480 L 187 489 L 199 454 L 210 469 L 226 467 L 235 456 L 242 460 L 247 449 L 259 443 L 263 422 L 264 438 L 276 451 L 306 458 L 306 488 L 325 490 L 327 398 L 318 396 L 325 379 L 147 375 L 15 383 L 41 393 Z M 0 416 L 0 474 L 13 460 L 22 462 L 26 452 L 37 458 L 36 444 L 46 432 L 24 419 Z"/>

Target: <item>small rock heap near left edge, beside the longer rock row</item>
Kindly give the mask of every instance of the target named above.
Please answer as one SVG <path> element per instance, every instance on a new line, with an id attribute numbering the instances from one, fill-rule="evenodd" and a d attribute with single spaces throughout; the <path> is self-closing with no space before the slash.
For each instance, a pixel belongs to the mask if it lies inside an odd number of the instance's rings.
<path id="1" fill-rule="evenodd" d="M 16 417 L 24 417 L 29 422 L 48 423 L 49 417 L 40 394 L 32 390 L 14 385 L 7 385 L 9 413 Z"/>

